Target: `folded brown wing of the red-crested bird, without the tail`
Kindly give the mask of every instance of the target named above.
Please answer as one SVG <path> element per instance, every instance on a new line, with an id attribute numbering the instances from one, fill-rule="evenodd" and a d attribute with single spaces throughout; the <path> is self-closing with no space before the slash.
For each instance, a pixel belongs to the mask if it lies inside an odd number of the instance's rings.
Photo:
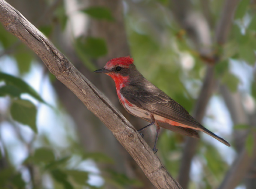
<path id="1" fill-rule="evenodd" d="M 203 126 L 190 116 L 185 108 L 149 81 L 146 82 L 146 87 L 145 85 L 143 87 L 139 86 L 139 84 L 129 85 L 121 88 L 120 93 L 132 104 L 152 114 L 187 126 L 203 129 Z"/>

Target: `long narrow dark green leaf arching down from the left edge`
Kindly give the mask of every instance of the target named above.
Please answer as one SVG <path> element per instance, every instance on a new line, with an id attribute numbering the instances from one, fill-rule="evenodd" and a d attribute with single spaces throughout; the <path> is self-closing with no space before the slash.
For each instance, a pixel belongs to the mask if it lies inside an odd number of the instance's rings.
<path id="1" fill-rule="evenodd" d="M 14 77 L 7 73 L 0 72 L 0 81 L 5 81 L 5 84 L 13 85 L 14 87 L 20 89 L 21 93 L 27 93 L 30 96 L 37 99 L 38 101 L 47 104 L 32 87 L 30 87 L 26 82 L 24 82 L 20 78 Z"/>

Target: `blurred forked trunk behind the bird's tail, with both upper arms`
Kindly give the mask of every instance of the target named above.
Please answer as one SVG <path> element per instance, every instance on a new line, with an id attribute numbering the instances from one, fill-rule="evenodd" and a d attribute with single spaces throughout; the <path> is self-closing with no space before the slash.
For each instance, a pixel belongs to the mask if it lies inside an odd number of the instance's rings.
<path id="1" fill-rule="evenodd" d="M 230 25 L 233 20 L 233 15 L 236 10 L 236 5 L 238 4 L 238 2 L 239 2 L 238 0 L 237 1 L 226 0 L 224 2 L 222 14 L 216 26 L 214 43 L 223 45 L 226 42 L 227 34 L 230 31 Z M 203 81 L 200 95 L 198 97 L 197 103 L 194 108 L 194 113 L 193 113 L 194 117 L 199 122 L 202 122 L 206 112 L 206 107 L 208 105 L 208 102 L 216 88 L 216 80 L 214 77 L 213 66 L 214 64 L 218 63 L 218 60 L 220 59 L 221 55 L 216 55 L 214 53 L 215 49 L 211 48 L 213 44 L 211 44 L 212 39 L 210 38 L 211 36 L 210 28 L 209 28 L 209 25 L 207 24 L 207 21 L 203 19 L 202 17 L 203 15 L 200 15 L 201 19 L 199 19 L 199 20 L 202 20 L 201 22 L 203 22 L 203 24 L 201 24 L 200 22 L 198 22 L 198 19 L 197 21 L 195 21 L 195 19 L 194 20 L 191 19 L 193 18 L 193 16 L 191 16 L 192 10 L 188 10 L 189 8 L 187 7 L 189 3 L 182 1 L 182 3 L 180 4 L 180 1 L 173 1 L 173 4 L 176 5 L 176 7 L 174 8 L 175 11 L 173 12 L 176 14 L 182 14 L 182 16 L 180 15 L 175 16 L 176 18 L 179 19 L 178 23 L 181 24 L 181 27 L 184 28 L 187 31 L 188 35 L 193 39 L 195 46 L 200 46 L 201 48 L 207 50 L 202 52 L 203 54 L 201 55 L 207 56 L 210 59 L 214 59 L 214 61 L 211 63 L 213 65 L 207 65 L 206 75 Z M 187 8 L 184 8 L 183 4 L 185 4 L 186 5 L 185 7 Z M 194 17 L 194 18 L 197 18 L 197 17 Z M 204 27 L 200 27 L 201 25 L 204 25 Z M 201 35 L 201 33 L 204 35 Z M 202 50 L 198 49 L 198 51 L 200 52 Z M 181 186 L 183 188 L 188 187 L 191 161 L 196 152 L 197 144 L 198 144 L 198 141 L 193 138 L 187 138 L 187 141 L 185 143 L 184 154 L 182 156 L 183 159 L 181 161 L 181 167 L 180 167 L 179 177 L 178 177 L 178 181 L 179 183 L 181 183 Z"/>

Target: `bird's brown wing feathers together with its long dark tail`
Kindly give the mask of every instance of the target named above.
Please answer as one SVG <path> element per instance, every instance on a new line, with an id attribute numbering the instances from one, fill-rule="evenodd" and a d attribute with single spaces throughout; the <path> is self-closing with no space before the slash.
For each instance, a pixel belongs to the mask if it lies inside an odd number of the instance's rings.
<path id="1" fill-rule="evenodd" d="M 162 90 L 154 86 L 150 81 L 145 78 L 140 83 L 130 84 L 120 90 L 121 95 L 126 98 L 130 103 L 172 121 L 199 128 L 201 131 L 209 134 L 227 146 L 230 144 L 223 138 L 212 133 L 203 127 L 197 120 L 195 120 L 178 102 L 175 102 Z M 197 131 L 193 128 L 184 128 L 179 126 L 171 126 L 169 124 L 160 123 L 160 126 L 181 133 L 191 137 L 198 137 Z M 178 127 L 178 128 L 175 128 Z"/>

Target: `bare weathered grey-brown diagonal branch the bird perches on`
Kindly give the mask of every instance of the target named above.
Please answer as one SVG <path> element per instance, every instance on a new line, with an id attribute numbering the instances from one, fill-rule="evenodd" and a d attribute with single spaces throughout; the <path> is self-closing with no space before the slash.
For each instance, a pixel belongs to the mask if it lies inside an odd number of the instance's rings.
<path id="1" fill-rule="evenodd" d="M 181 189 L 136 129 L 23 15 L 0 0 L 0 22 L 31 48 L 49 71 L 93 112 L 130 153 L 156 188 Z"/>

